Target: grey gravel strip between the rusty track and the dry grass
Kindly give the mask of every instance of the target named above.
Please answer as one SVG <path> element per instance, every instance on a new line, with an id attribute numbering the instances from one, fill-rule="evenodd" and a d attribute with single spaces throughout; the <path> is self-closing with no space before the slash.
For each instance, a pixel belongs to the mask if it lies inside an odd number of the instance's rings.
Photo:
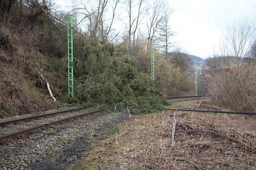
<path id="1" fill-rule="evenodd" d="M 75 111 L 74 114 L 81 112 Z M 67 169 L 75 166 L 80 158 L 79 152 L 90 149 L 92 138 L 102 138 L 104 130 L 111 130 L 128 120 L 129 115 L 99 112 L 44 130 L 54 132 L 52 135 L 41 131 L 11 140 L 0 145 L 0 170 Z"/>

